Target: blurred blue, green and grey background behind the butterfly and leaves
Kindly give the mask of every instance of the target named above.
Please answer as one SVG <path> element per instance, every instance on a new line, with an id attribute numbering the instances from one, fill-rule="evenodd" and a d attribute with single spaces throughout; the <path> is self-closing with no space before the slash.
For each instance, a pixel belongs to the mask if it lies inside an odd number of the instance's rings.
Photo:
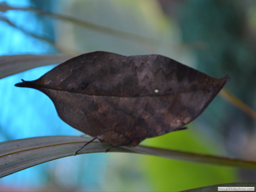
<path id="1" fill-rule="evenodd" d="M 229 74 L 231 81 L 225 87 L 256 108 L 254 0 L 0 3 L 1 56 L 97 50 L 161 54 L 214 77 Z M 6 4 L 23 9 L 4 10 Z M 0 142 L 83 134 L 60 120 L 46 95 L 14 87 L 21 78 L 37 79 L 54 66 L 0 79 Z M 147 139 L 142 145 L 255 160 L 255 125 L 252 118 L 218 95 L 188 130 Z M 153 156 L 99 153 L 62 158 L 6 176 L 0 179 L 0 191 L 179 191 L 239 181 L 256 181 L 256 172 Z"/>

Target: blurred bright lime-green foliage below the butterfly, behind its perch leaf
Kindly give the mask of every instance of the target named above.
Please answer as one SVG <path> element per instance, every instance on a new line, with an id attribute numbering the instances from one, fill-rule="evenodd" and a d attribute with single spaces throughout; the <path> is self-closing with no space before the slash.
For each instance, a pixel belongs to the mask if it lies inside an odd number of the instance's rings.
<path id="1" fill-rule="evenodd" d="M 166 134 L 161 138 L 152 138 L 146 140 L 145 143 L 160 148 L 193 151 L 201 154 L 219 153 L 220 149 L 216 148 L 210 139 L 202 139 L 201 134 L 193 131 L 192 126 L 189 127 L 186 131 Z M 159 191 L 178 191 L 237 181 L 236 170 L 227 167 L 193 164 L 155 156 L 141 157 L 141 164 L 144 165 L 145 176 L 151 181 L 155 190 Z"/>

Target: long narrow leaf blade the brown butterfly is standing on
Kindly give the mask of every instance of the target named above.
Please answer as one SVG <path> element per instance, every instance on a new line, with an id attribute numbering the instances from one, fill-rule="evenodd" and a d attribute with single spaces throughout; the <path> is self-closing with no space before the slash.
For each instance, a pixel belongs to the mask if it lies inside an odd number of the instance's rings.
<path id="1" fill-rule="evenodd" d="M 50 136 L 2 142 L 0 143 L 0 177 L 10 175 L 14 172 L 54 159 L 73 156 L 74 152 L 78 150 L 84 142 L 88 142 L 91 139 L 92 138 L 88 137 Z M 94 141 L 84 147 L 79 154 L 105 152 L 106 149 L 110 147 L 110 145 L 105 143 Z M 135 148 L 116 147 L 112 148 L 109 152 L 137 153 L 196 163 L 256 169 L 256 162 L 253 161 L 145 146 L 138 146 Z"/>

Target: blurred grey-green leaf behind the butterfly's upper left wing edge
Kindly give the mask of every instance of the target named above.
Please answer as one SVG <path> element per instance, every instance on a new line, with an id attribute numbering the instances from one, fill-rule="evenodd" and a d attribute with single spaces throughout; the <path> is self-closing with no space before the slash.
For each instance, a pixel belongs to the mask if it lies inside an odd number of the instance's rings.
<path id="1" fill-rule="evenodd" d="M 61 63 L 72 55 L 8 55 L 0 57 L 0 79 L 31 68 Z"/>

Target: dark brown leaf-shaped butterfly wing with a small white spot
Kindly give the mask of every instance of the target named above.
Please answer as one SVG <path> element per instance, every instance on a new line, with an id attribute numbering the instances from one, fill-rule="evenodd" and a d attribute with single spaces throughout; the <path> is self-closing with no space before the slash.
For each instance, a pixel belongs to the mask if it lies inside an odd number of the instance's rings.
<path id="1" fill-rule="evenodd" d="M 48 95 L 72 127 L 112 145 L 136 146 L 195 119 L 228 80 L 161 55 L 91 52 L 25 83 Z"/>

